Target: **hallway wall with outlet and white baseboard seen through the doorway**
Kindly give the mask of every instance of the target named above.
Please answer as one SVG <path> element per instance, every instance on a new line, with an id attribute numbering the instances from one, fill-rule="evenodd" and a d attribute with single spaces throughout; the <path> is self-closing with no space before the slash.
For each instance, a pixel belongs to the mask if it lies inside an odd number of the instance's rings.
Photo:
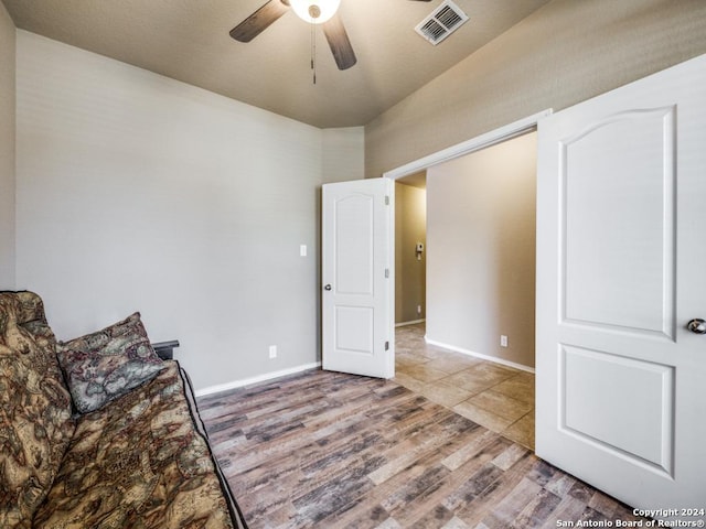
<path id="1" fill-rule="evenodd" d="M 535 186 L 534 132 L 427 171 L 427 339 L 534 366 Z"/>

